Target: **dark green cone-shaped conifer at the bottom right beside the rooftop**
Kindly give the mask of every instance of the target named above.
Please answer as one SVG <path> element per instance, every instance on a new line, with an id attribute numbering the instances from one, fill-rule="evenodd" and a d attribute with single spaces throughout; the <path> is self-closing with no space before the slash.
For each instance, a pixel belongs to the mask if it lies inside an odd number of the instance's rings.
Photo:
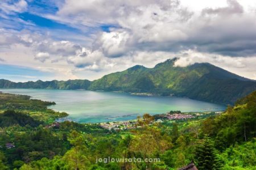
<path id="1" fill-rule="evenodd" d="M 221 168 L 221 161 L 208 136 L 205 136 L 203 142 L 197 145 L 194 159 L 199 169 L 215 170 Z"/>

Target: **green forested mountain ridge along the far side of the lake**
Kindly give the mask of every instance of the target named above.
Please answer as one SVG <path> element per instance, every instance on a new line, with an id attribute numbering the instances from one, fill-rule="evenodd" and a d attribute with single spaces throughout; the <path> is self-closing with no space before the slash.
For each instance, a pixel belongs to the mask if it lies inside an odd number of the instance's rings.
<path id="1" fill-rule="evenodd" d="M 233 104 L 256 90 L 256 82 L 209 63 L 176 67 L 177 58 L 168 59 L 154 68 L 134 66 L 101 79 L 14 83 L 0 80 L 0 88 L 51 88 L 67 90 L 103 90 L 175 95 L 213 103 Z"/>

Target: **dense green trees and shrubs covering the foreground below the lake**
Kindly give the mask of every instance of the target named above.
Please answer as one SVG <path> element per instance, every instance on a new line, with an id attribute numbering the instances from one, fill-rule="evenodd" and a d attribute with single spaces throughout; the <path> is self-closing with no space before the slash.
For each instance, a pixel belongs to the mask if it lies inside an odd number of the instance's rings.
<path id="1" fill-rule="evenodd" d="M 255 99 L 253 92 L 225 113 L 200 120 L 151 124 L 154 117 L 144 114 L 138 118 L 137 128 L 123 131 L 109 131 L 97 124 L 51 124 L 40 117 L 28 118 L 35 112 L 33 107 L 5 111 L 0 118 L 18 122 L 0 128 L 0 169 L 177 169 L 192 160 L 199 169 L 256 169 Z M 10 103 L 2 101 L 3 108 Z M 16 114 L 20 118 L 15 119 Z M 14 147 L 7 148 L 9 143 Z M 160 160 L 98 161 L 109 157 Z"/>

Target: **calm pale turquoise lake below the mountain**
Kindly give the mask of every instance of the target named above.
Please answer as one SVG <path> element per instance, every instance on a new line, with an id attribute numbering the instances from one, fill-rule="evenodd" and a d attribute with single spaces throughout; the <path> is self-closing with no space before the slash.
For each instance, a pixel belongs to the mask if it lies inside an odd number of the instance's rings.
<path id="1" fill-rule="evenodd" d="M 11 94 L 32 96 L 32 99 L 55 101 L 51 109 L 67 112 L 76 122 L 133 120 L 143 113 L 168 111 L 223 111 L 226 106 L 174 96 L 135 96 L 125 93 L 79 90 L 1 89 Z"/>

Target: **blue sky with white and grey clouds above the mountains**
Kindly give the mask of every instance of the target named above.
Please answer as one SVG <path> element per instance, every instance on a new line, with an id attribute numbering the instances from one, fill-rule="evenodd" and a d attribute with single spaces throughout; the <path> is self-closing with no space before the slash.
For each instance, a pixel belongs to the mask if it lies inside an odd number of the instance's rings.
<path id="1" fill-rule="evenodd" d="M 94 80 L 209 62 L 256 79 L 254 0 L 1 0 L 0 79 Z"/>

